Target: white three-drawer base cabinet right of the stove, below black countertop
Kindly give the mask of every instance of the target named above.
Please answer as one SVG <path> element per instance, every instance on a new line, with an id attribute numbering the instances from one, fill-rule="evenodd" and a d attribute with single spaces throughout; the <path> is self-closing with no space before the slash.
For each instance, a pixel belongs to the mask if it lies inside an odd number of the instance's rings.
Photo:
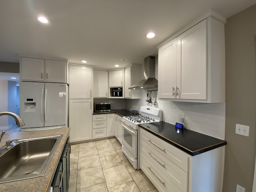
<path id="1" fill-rule="evenodd" d="M 221 192 L 224 146 L 190 156 L 140 128 L 140 168 L 159 192 Z"/>

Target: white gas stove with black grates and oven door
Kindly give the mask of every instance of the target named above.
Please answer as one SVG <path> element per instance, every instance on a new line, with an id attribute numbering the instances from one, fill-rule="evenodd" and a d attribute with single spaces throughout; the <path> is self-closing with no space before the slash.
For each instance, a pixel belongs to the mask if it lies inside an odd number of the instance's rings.
<path id="1" fill-rule="evenodd" d="M 135 169 L 139 168 L 139 124 L 159 122 L 162 120 L 162 110 L 151 106 L 141 106 L 140 114 L 125 116 L 122 119 L 122 152 Z"/>

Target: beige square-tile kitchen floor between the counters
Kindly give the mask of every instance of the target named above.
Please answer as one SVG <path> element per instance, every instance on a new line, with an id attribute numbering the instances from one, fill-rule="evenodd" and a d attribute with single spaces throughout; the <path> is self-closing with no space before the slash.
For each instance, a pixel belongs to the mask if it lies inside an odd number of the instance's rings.
<path id="1" fill-rule="evenodd" d="M 158 192 L 116 138 L 71 145 L 69 192 Z"/>

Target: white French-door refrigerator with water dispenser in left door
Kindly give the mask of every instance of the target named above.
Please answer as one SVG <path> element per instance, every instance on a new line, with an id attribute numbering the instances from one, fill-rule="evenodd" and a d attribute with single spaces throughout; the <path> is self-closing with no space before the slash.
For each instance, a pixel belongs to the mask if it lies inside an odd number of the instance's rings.
<path id="1" fill-rule="evenodd" d="M 68 126 L 68 85 L 20 82 L 20 131 Z"/>

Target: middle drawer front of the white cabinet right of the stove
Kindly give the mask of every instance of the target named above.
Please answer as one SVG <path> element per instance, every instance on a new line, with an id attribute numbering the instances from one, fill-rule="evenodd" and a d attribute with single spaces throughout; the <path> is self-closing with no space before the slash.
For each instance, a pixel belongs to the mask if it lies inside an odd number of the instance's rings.
<path id="1" fill-rule="evenodd" d="M 182 192 L 188 191 L 188 173 L 141 140 L 140 152 L 148 158 Z"/>

